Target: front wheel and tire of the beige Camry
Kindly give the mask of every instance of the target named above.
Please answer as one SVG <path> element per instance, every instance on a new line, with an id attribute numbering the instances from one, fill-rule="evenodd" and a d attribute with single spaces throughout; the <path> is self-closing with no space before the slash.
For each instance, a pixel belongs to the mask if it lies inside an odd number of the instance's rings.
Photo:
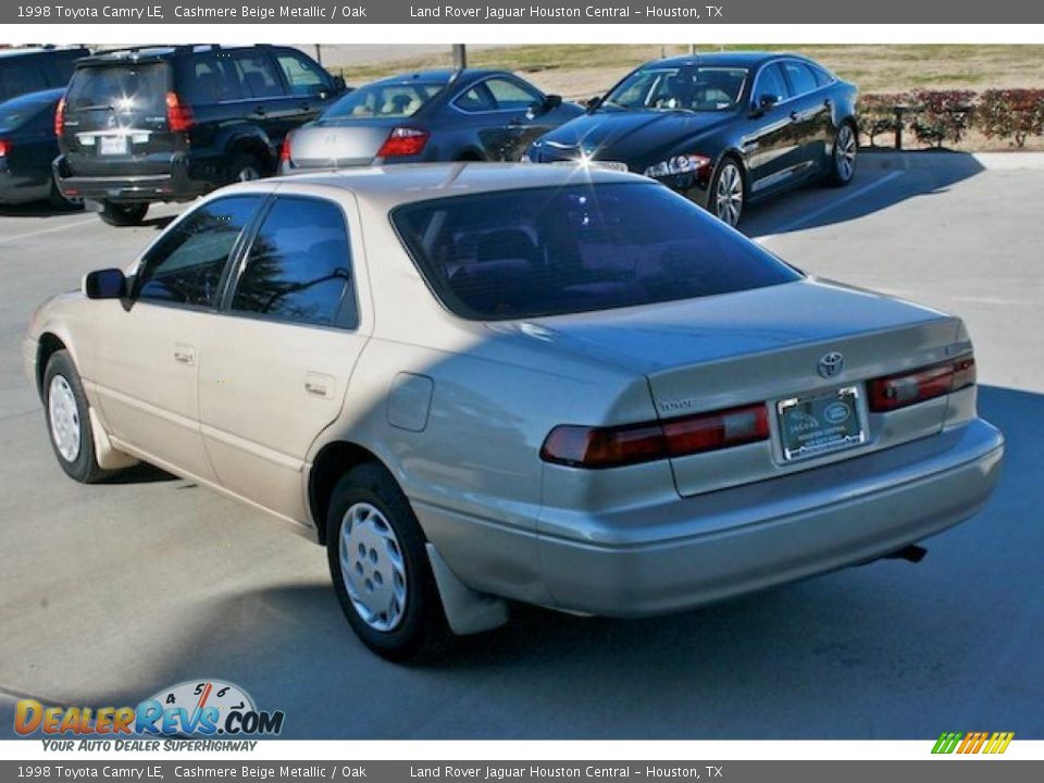
<path id="1" fill-rule="evenodd" d="M 58 463 L 70 478 L 95 484 L 111 473 L 95 459 L 95 438 L 79 373 L 69 351 L 51 355 L 44 371 L 44 411 L 47 433 Z"/>

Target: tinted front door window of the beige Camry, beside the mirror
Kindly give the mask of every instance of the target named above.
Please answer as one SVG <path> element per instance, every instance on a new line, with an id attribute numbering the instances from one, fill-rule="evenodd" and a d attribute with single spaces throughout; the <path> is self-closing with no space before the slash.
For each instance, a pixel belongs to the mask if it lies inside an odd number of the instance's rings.
<path id="1" fill-rule="evenodd" d="M 217 199 L 182 220 L 141 260 L 135 279 L 136 298 L 216 307 L 228 254 L 261 199 L 261 196 Z"/>

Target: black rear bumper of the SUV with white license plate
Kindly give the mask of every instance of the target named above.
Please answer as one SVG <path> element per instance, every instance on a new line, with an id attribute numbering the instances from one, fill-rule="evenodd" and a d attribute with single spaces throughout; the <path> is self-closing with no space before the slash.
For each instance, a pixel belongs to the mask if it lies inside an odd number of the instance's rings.
<path id="1" fill-rule="evenodd" d="M 190 201 L 214 188 L 214 184 L 192 177 L 187 156 L 175 154 L 169 172 L 140 176 L 76 176 L 59 156 L 53 163 L 54 182 L 67 199 L 116 201 Z"/>

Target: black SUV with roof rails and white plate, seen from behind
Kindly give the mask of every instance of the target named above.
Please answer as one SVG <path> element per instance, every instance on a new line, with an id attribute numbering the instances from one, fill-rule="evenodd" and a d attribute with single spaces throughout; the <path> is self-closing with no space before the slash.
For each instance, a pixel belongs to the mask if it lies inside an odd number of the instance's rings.
<path id="1" fill-rule="evenodd" d="M 289 47 L 102 52 L 76 64 L 59 104 L 54 179 L 107 223 L 136 225 L 153 201 L 273 173 L 287 132 L 344 91 Z"/>

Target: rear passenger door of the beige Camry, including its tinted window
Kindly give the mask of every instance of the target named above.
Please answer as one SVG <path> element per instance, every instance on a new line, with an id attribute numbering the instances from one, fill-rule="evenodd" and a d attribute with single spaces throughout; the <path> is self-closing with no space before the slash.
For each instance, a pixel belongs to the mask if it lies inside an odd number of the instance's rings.
<path id="1" fill-rule="evenodd" d="M 371 331 L 358 226 L 353 202 L 276 191 L 201 336 L 200 422 L 217 478 L 290 521 L 307 519 L 309 447 L 339 414 Z"/>

